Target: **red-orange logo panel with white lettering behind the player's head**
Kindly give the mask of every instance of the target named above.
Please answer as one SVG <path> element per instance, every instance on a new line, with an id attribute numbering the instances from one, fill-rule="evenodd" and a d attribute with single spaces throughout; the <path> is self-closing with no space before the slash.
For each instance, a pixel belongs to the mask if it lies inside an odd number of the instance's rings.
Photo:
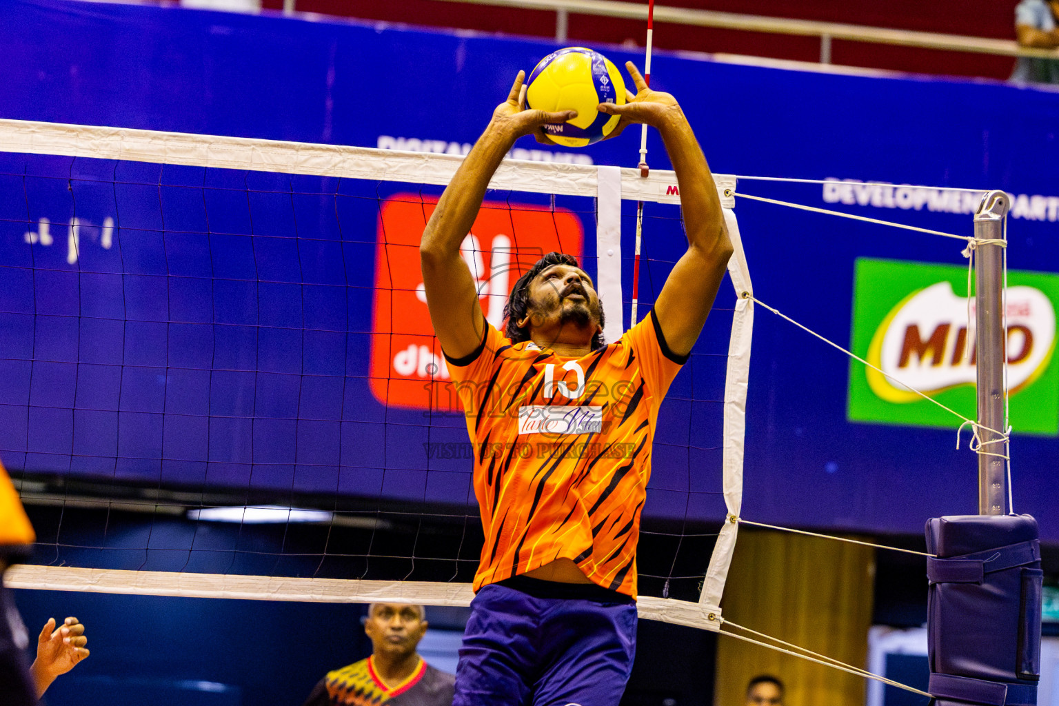
<path id="1" fill-rule="evenodd" d="M 460 402 L 446 384 L 449 373 L 430 325 L 419 269 L 419 240 L 436 203 L 416 194 L 397 194 L 387 198 L 379 212 L 370 382 L 375 399 L 383 404 L 457 412 Z M 557 250 L 579 258 L 582 242 L 580 219 L 570 211 L 483 203 L 461 254 L 489 323 L 503 330 L 511 287 L 542 255 Z"/>

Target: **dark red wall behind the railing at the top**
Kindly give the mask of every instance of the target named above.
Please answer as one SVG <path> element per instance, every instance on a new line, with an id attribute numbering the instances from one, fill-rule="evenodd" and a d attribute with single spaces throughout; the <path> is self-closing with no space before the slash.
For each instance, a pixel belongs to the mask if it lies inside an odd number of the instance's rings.
<path id="1" fill-rule="evenodd" d="M 663 0 L 671 6 L 696 7 L 770 17 L 845 22 L 868 26 L 940 32 L 979 37 L 1011 39 L 1017 0 L 1001 2 L 958 2 L 956 0 Z M 321 13 L 367 20 L 387 20 L 409 24 L 459 28 L 537 37 L 555 36 L 555 13 L 535 10 L 489 7 L 439 0 L 297 0 L 301 12 Z M 263 0 L 267 8 L 279 10 L 283 0 Z M 645 2 L 646 4 L 646 2 Z M 571 15 L 568 36 L 571 42 L 644 43 L 644 22 L 587 15 Z M 657 23 L 654 46 L 670 50 L 724 52 L 780 59 L 816 61 L 820 41 L 756 32 L 736 32 L 710 28 Z M 832 41 L 831 61 L 845 66 L 891 69 L 931 74 L 988 76 L 1006 78 L 1013 59 L 987 54 L 939 52 L 852 41 Z"/>

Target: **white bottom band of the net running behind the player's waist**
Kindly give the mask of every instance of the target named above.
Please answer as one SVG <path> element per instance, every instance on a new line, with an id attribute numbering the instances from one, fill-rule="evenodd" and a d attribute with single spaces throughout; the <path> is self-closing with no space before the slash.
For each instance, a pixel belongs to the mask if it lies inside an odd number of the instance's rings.
<path id="1" fill-rule="evenodd" d="M 139 596 L 181 598 L 232 598 L 323 603 L 421 603 L 424 605 L 470 605 L 474 597 L 469 583 L 446 581 L 365 581 L 358 579 L 309 579 L 232 574 L 178 574 L 132 572 L 116 568 L 79 568 L 16 564 L 4 573 L 12 589 L 79 591 Z M 717 632 L 713 620 L 698 603 L 672 598 L 641 596 L 640 617 Z"/>

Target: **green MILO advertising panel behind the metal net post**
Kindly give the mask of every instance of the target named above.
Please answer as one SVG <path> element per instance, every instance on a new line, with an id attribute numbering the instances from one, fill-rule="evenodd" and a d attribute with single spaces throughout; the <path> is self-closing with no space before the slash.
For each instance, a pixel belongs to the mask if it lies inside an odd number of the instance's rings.
<path id="1" fill-rule="evenodd" d="M 1055 362 L 1059 274 L 1008 271 L 1007 361 L 1016 433 L 1059 433 Z M 967 268 L 861 258 L 854 286 L 852 350 L 943 404 L 975 416 L 974 297 Z M 953 429 L 959 420 L 858 361 L 850 362 L 851 421 Z"/>

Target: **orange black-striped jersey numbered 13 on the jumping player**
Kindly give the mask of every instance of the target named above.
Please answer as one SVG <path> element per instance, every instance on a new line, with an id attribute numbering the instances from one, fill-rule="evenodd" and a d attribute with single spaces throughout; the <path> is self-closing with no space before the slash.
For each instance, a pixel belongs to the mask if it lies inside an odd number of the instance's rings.
<path id="1" fill-rule="evenodd" d="M 571 559 L 634 598 L 654 424 L 686 360 L 654 314 L 580 358 L 513 344 L 486 324 L 478 350 L 447 360 L 485 530 L 474 591 Z"/>

